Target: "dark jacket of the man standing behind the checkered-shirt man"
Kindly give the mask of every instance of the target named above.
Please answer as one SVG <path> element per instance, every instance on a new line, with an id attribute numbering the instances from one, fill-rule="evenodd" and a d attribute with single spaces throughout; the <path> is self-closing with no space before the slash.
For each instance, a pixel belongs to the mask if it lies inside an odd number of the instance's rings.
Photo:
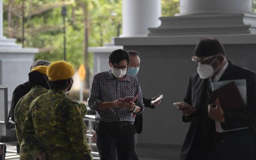
<path id="1" fill-rule="evenodd" d="M 155 108 L 154 105 L 150 104 L 151 103 L 151 99 L 143 98 L 143 103 L 144 103 L 145 107 L 147 107 L 147 108 L 153 108 L 153 109 Z M 135 117 L 134 126 L 136 128 L 137 134 L 140 134 L 142 132 L 142 128 L 143 128 L 143 116 L 142 116 L 142 113 Z"/>

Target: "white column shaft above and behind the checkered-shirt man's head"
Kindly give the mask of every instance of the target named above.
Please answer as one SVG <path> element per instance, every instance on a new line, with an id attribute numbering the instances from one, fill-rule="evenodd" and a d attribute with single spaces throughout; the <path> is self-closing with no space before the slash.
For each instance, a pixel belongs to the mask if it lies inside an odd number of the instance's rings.
<path id="1" fill-rule="evenodd" d="M 160 26 L 161 0 L 123 0 L 122 35 L 146 36 L 149 27 Z"/>

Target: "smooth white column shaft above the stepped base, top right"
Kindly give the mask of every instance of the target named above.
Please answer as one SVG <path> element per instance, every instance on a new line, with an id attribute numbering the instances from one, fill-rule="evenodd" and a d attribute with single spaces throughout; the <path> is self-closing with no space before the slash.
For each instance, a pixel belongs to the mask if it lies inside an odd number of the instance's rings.
<path id="1" fill-rule="evenodd" d="M 180 14 L 252 13 L 252 0 L 180 0 Z"/>

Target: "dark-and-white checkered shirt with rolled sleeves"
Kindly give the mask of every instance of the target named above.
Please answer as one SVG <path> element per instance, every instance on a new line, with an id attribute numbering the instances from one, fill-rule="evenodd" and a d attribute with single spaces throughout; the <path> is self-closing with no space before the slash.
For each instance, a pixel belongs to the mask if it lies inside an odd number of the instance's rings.
<path id="1" fill-rule="evenodd" d="M 96 110 L 96 119 L 104 122 L 134 122 L 134 116 L 128 109 L 112 107 L 99 111 L 98 105 L 100 102 L 110 102 L 127 96 L 136 96 L 137 94 L 139 95 L 134 103 L 141 107 L 141 111 L 137 113 L 140 114 L 144 110 L 144 104 L 138 79 L 126 74 L 124 79 L 119 80 L 109 70 L 108 72 L 98 73 L 93 77 L 90 84 L 88 105 L 90 109 Z"/>

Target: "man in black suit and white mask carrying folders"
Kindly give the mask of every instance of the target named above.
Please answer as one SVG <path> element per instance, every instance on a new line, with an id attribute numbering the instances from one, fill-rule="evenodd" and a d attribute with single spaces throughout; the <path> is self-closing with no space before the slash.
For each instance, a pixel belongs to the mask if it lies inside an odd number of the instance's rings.
<path id="1" fill-rule="evenodd" d="M 215 38 L 202 39 L 194 54 L 198 73 L 189 79 L 184 102 L 176 104 L 183 122 L 190 122 L 180 160 L 255 160 L 256 73 L 228 61 L 223 45 Z M 218 99 L 211 102 L 209 86 L 213 81 L 235 79 L 246 80 L 247 106 L 243 111 L 224 112 Z M 224 130 L 248 128 L 217 133 L 215 120 Z"/>

